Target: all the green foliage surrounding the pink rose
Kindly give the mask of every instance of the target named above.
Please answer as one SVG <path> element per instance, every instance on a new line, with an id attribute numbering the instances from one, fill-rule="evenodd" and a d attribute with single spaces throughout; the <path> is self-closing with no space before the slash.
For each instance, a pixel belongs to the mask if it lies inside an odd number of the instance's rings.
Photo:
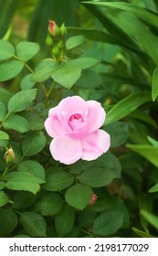
<path id="1" fill-rule="evenodd" d="M 0 0 L 0 236 L 157 237 L 156 1 L 22 2 Z M 48 47 L 47 17 L 67 27 Z M 100 101 L 111 148 L 63 165 L 44 123 L 72 95 Z"/>

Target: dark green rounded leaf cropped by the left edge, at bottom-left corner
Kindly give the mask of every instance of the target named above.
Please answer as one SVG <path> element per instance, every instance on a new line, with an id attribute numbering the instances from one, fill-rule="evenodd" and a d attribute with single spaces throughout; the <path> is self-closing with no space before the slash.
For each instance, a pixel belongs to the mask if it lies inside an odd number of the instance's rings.
<path id="1" fill-rule="evenodd" d="M 0 234 L 6 235 L 16 229 L 17 216 L 11 208 L 5 208 L 0 211 Z"/>

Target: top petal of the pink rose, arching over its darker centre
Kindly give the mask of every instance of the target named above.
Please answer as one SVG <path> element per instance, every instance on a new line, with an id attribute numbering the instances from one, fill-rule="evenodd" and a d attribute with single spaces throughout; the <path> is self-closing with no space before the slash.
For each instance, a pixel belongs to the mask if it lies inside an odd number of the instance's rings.
<path id="1" fill-rule="evenodd" d="M 85 113 L 89 111 L 87 102 L 84 101 L 79 96 L 71 96 L 63 99 L 58 104 L 58 119 L 63 122 L 67 121 L 71 115 L 79 113 L 83 119 L 85 118 Z"/>

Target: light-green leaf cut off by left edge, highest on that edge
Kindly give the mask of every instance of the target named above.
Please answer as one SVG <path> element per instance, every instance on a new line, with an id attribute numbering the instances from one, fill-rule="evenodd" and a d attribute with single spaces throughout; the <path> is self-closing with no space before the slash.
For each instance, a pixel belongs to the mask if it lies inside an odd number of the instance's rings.
<path id="1" fill-rule="evenodd" d="M 0 40 L 0 60 L 10 59 L 15 55 L 13 45 L 5 40 Z"/>

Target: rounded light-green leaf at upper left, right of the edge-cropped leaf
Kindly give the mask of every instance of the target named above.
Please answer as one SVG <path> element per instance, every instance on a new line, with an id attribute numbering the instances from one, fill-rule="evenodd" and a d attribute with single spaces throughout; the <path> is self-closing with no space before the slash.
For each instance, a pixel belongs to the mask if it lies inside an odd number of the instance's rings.
<path id="1" fill-rule="evenodd" d="M 19 59 L 27 61 L 32 59 L 38 52 L 39 45 L 33 42 L 20 42 L 16 45 L 16 54 Z"/>

